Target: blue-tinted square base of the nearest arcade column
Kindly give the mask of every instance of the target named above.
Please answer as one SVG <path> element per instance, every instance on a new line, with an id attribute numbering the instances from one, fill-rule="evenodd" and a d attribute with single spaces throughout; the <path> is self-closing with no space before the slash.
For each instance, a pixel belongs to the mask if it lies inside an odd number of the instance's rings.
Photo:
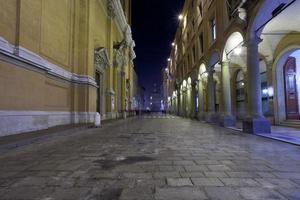
<path id="1" fill-rule="evenodd" d="M 243 121 L 243 132 L 258 134 L 271 133 L 271 124 L 266 118 L 246 118 Z"/>

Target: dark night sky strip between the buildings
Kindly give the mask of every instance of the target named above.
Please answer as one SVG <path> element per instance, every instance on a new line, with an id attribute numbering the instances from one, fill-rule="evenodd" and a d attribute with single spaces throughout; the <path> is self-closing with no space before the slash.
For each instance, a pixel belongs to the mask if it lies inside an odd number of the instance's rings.
<path id="1" fill-rule="evenodd" d="M 161 70 L 167 66 L 183 3 L 184 0 L 132 0 L 135 70 L 148 94 L 153 84 L 161 84 Z"/>

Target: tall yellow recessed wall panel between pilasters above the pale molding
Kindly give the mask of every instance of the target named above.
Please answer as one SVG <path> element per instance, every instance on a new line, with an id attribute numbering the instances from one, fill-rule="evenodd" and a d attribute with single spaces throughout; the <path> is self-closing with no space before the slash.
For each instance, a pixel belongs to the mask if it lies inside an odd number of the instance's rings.
<path id="1" fill-rule="evenodd" d="M 43 0 L 41 53 L 70 70 L 71 1 Z"/>

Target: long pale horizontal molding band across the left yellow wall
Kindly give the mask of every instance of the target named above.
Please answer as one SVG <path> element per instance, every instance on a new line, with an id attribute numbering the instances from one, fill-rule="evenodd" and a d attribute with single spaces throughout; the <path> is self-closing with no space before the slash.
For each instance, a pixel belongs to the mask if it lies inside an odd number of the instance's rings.
<path id="1" fill-rule="evenodd" d="M 94 78 L 87 75 L 78 75 L 69 72 L 49 61 L 43 59 L 41 56 L 29 51 L 28 49 L 21 46 L 14 46 L 0 37 L 0 53 L 3 53 L 12 59 L 17 59 L 23 63 L 29 64 L 33 69 L 40 69 L 45 71 L 47 74 L 54 77 L 67 80 L 72 83 L 88 84 L 94 87 L 98 87 Z M 23 65 L 18 65 L 24 67 Z M 26 66 L 28 68 L 28 66 Z"/>

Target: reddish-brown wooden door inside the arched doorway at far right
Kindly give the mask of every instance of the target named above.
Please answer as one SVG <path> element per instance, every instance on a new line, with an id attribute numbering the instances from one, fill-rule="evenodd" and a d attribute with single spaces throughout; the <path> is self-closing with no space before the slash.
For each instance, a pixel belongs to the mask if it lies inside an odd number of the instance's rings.
<path id="1" fill-rule="evenodd" d="M 284 66 L 286 118 L 300 119 L 296 82 L 296 58 L 289 57 Z"/>

